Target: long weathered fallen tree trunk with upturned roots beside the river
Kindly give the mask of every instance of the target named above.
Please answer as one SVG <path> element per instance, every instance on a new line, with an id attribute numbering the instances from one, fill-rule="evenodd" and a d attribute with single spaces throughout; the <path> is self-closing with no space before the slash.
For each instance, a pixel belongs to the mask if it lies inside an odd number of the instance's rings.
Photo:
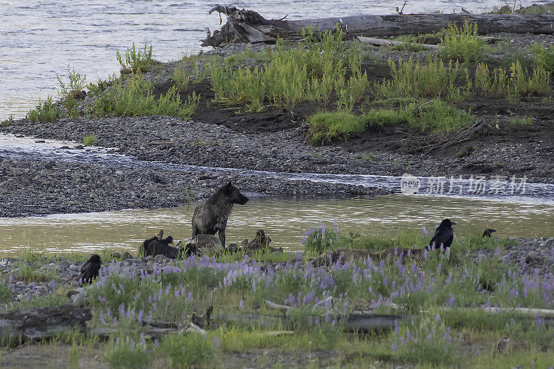
<path id="1" fill-rule="evenodd" d="M 410 15 L 355 15 L 285 21 L 265 19 L 252 10 L 238 10 L 234 6 L 217 5 L 210 10 L 227 15 L 227 22 L 202 46 L 224 46 L 229 42 L 274 43 L 278 37 L 298 40 L 303 28 L 332 30 L 337 24 L 349 38 L 357 36 L 397 36 L 417 33 L 433 33 L 449 24 L 463 26 L 465 21 L 476 24 L 479 33 L 543 33 L 554 34 L 554 19 L 546 14 L 493 15 L 493 14 L 410 14 Z"/>

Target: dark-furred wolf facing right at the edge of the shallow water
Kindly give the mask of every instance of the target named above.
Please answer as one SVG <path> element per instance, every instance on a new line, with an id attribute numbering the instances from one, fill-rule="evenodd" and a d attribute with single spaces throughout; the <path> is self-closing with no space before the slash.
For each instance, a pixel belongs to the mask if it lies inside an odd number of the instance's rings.
<path id="1" fill-rule="evenodd" d="M 204 204 L 195 208 L 193 215 L 193 237 L 195 235 L 215 235 L 218 233 L 221 244 L 225 246 L 225 227 L 231 215 L 233 204 L 244 205 L 248 197 L 229 182 L 211 195 Z"/>

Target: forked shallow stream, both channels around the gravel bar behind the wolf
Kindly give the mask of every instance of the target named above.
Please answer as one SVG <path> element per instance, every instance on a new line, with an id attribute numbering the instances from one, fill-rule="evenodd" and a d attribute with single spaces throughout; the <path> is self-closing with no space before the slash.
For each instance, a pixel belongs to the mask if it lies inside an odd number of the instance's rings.
<path id="1" fill-rule="evenodd" d="M 109 163 L 122 168 L 155 168 L 173 172 L 234 172 L 251 177 L 280 177 L 291 180 L 327 181 L 361 186 L 379 186 L 400 192 L 400 177 L 370 174 L 316 174 L 206 168 L 194 165 L 147 162 L 129 156 L 108 154 L 94 147 L 75 150 L 75 143 L 0 135 L 0 157 L 67 161 L 73 163 Z M 456 235 L 483 233 L 496 228 L 499 237 L 554 236 L 554 185 L 526 183 L 524 190 L 512 195 L 490 195 L 470 190 L 472 183 L 461 180 L 456 186 L 461 195 L 425 195 L 430 178 L 418 177 L 420 194 L 359 197 L 354 199 L 274 198 L 247 194 L 251 201 L 236 206 L 227 226 L 228 242 L 251 240 L 257 229 L 264 229 L 272 246 L 301 249 L 301 237 L 308 227 L 331 226 L 335 219 L 348 235 L 395 237 L 399 230 L 434 229 L 445 217 L 458 223 Z M 490 183 L 488 183 L 490 185 Z M 424 195 L 421 195 L 423 193 Z M 104 213 L 49 215 L 46 217 L 0 218 L 0 254 L 21 249 L 47 252 L 92 252 L 118 249 L 135 252 L 142 240 L 163 228 L 176 240 L 190 236 L 190 219 L 197 204 L 179 208 L 127 209 Z"/>

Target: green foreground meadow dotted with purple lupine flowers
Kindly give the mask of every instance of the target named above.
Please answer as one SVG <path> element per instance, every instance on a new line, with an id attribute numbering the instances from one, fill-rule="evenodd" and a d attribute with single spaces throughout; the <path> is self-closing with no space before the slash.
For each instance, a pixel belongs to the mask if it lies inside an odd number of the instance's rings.
<path id="1" fill-rule="evenodd" d="M 392 237 L 343 235 L 336 226 L 322 225 L 306 233 L 304 258 L 337 247 L 420 249 L 429 238 L 424 230 L 402 231 Z M 429 253 L 418 262 L 400 262 L 398 258 L 380 263 L 343 260 L 329 269 L 298 269 L 292 263 L 298 255 L 282 253 L 278 261 L 289 264 L 271 273 L 258 265 L 269 260 L 269 255 L 256 256 L 257 262 L 244 255 L 221 255 L 211 260 L 193 257 L 163 270 L 154 267 L 148 276 L 125 271 L 117 274 L 115 268 L 107 267 L 104 278 L 89 287 L 87 305 L 93 314 L 89 326 L 114 330 L 109 341 L 103 343 L 94 336 L 84 338 L 73 332 L 60 334 L 53 342 L 71 345 L 72 362 L 78 362 L 87 348 L 100 350 L 100 357 L 114 368 L 224 366 L 226 354 L 265 349 L 276 350 L 279 357 L 332 350 L 332 359 L 323 359 L 321 364 L 332 361 L 337 366 L 366 366 L 379 361 L 425 368 L 521 366 L 529 365 L 530 360 L 536 366 L 550 363 L 554 355 L 552 333 L 540 319 L 467 309 L 483 304 L 551 308 L 554 281 L 548 276 L 523 278 L 517 260 L 506 263 L 491 255 L 475 264 L 468 256 L 479 249 L 498 250 L 500 254 L 509 243 L 456 234 L 450 253 Z M 30 261 L 44 256 L 28 253 L 21 257 Z M 9 296 L 9 289 L 4 290 Z M 57 289 L 55 294 L 33 298 L 22 306 L 61 304 L 66 301 L 65 294 L 66 290 Z M 332 305 L 315 306 L 327 296 L 334 298 Z M 265 306 L 265 300 L 291 307 L 287 316 L 294 334 L 268 334 L 285 329 L 278 325 L 226 324 L 207 329 L 205 335 L 170 334 L 159 341 L 141 336 L 142 321 L 183 323 L 208 305 L 215 307 L 215 314 L 276 314 Z M 376 314 L 411 314 L 413 318 L 398 321 L 391 331 L 345 332 L 335 316 L 361 306 L 369 306 Z M 510 337 L 512 348 L 493 355 L 494 344 L 503 336 Z"/>

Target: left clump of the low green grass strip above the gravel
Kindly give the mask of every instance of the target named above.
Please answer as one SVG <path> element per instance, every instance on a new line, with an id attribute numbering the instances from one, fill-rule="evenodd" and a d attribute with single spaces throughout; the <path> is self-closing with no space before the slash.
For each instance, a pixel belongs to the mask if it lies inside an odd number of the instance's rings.
<path id="1" fill-rule="evenodd" d="M 361 132 L 368 121 L 364 116 L 357 116 L 345 111 L 316 113 L 308 118 L 310 129 L 308 135 L 312 144 L 331 143 L 337 139 L 348 138 L 352 132 Z"/>

